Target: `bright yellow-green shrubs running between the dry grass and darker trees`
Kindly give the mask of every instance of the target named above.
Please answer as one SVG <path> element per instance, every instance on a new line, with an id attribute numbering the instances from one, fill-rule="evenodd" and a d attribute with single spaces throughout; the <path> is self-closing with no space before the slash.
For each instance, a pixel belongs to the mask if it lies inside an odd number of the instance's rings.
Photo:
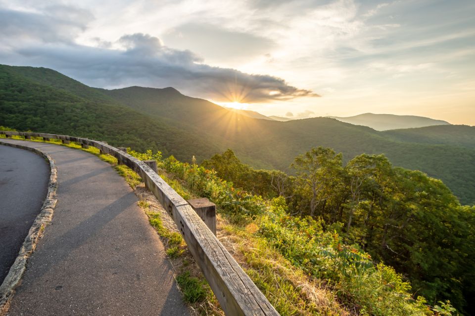
<path id="1" fill-rule="evenodd" d="M 374 264 L 357 245 L 337 233 L 325 232 L 325 223 L 287 213 L 284 197 L 271 201 L 234 189 L 232 183 L 202 166 L 166 158 L 162 165 L 192 192 L 213 200 L 218 210 L 240 225 L 254 220 L 257 234 L 278 249 L 296 268 L 334 286 L 342 302 L 373 315 L 428 315 L 421 297 L 412 298 L 411 285 L 394 269 Z M 213 188 L 213 190 L 208 190 Z"/>

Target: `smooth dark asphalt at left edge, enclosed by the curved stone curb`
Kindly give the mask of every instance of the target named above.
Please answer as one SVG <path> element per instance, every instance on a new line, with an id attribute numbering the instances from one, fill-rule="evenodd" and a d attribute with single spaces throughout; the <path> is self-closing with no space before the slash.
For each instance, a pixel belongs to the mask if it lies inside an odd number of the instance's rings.
<path id="1" fill-rule="evenodd" d="M 0 284 L 47 195 L 49 165 L 43 157 L 0 146 Z"/>

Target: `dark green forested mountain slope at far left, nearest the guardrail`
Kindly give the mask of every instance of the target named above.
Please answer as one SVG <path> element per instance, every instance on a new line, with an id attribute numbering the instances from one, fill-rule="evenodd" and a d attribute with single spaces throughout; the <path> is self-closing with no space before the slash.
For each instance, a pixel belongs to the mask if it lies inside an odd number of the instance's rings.
<path id="1" fill-rule="evenodd" d="M 0 125 L 89 137 L 113 146 L 207 158 L 221 148 L 162 118 L 149 118 L 45 68 L 0 65 Z"/>

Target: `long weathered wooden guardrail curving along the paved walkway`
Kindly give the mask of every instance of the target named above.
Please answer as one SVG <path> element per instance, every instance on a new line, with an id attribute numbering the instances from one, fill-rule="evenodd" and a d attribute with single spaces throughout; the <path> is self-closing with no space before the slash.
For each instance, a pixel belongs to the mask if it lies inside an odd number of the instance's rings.
<path id="1" fill-rule="evenodd" d="M 191 254 L 201 268 L 221 308 L 228 316 L 278 316 L 279 313 L 245 274 L 236 260 L 196 214 L 191 205 L 175 192 L 145 162 L 104 142 L 87 138 L 44 133 L 0 131 L 0 134 L 60 139 L 76 142 L 82 147 L 93 146 L 109 154 L 137 172 L 147 188 L 167 210 L 184 237 Z"/>

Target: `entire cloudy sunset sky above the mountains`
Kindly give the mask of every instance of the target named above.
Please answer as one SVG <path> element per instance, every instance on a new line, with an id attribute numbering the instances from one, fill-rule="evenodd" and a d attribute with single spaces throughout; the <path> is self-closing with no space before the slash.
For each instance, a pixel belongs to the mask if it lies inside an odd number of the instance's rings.
<path id="1" fill-rule="evenodd" d="M 0 64 L 289 118 L 475 125 L 474 0 L 0 0 Z"/>

